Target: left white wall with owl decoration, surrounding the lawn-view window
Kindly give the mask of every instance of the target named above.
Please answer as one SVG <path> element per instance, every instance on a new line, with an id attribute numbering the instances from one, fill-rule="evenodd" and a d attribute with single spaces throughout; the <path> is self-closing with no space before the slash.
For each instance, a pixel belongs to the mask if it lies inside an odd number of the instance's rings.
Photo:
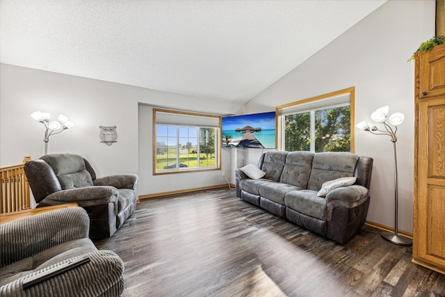
<path id="1" fill-rule="evenodd" d="M 44 126 L 30 116 L 40 110 L 50 112 L 54 120 L 63 113 L 76 123 L 49 138 L 49 154 L 81 154 L 99 177 L 138 173 L 139 195 L 225 184 L 219 170 L 161 178 L 147 175 L 152 172 L 152 122 L 139 126 L 146 119 L 139 118 L 138 104 L 218 114 L 233 114 L 241 106 L 5 64 L 0 65 L 0 87 L 0 166 L 44 154 Z M 118 142 L 100 143 L 100 125 L 117 126 Z M 227 160 L 223 165 L 230 163 Z"/>

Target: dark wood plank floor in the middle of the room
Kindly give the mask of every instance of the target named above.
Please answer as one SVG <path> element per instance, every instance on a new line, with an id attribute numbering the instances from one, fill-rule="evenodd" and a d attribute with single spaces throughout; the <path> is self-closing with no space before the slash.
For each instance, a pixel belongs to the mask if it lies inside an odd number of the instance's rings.
<path id="1" fill-rule="evenodd" d="M 124 260 L 124 296 L 445 296 L 445 275 L 372 227 L 340 245 L 228 188 L 141 200 L 95 244 Z"/>

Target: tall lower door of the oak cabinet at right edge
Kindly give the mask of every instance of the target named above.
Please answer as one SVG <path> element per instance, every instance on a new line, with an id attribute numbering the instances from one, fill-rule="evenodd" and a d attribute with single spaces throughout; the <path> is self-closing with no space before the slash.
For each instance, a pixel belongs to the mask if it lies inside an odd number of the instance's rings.
<path id="1" fill-rule="evenodd" d="M 445 96 L 419 103 L 417 182 L 414 257 L 445 269 Z"/>

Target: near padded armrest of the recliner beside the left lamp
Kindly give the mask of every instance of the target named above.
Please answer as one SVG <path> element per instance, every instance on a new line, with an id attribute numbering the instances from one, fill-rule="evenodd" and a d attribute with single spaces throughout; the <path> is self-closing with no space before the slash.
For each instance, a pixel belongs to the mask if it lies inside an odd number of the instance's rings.
<path id="1" fill-rule="evenodd" d="M 118 202 L 119 191 L 113 186 L 86 186 L 70 188 L 47 195 L 43 205 L 54 205 L 67 202 L 78 202 L 80 207 L 88 207 L 108 202 Z"/>

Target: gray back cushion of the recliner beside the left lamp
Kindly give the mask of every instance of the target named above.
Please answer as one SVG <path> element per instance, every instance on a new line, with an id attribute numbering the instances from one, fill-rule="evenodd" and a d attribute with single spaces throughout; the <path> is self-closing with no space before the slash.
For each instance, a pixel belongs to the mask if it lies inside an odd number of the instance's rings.
<path id="1" fill-rule="evenodd" d="M 63 190 L 93 185 L 85 161 L 78 154 L 47 154 L 40 159 L 53 168 Z"/>

